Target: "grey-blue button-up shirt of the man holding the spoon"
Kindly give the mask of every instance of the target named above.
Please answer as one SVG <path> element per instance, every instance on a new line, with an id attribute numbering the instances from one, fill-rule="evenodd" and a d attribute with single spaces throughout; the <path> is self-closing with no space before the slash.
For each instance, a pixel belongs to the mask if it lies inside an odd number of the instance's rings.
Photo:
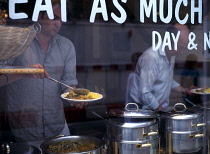
<path id="1" fill-rule="evenodd" d="M 60 35 L 52 38 L 46 54 L 34 39 L 30 47 L 12 63 L 25 67 L 39 63 L 51 77 L 67 85 L 77 85 L 74 45 Z M 59 135 L 65 124 L 60 97 L 65 89 L 48 79 L 22 78 L 9 84 L 8 113 L 14 135 L 22 140 L 40 140 Z"/>

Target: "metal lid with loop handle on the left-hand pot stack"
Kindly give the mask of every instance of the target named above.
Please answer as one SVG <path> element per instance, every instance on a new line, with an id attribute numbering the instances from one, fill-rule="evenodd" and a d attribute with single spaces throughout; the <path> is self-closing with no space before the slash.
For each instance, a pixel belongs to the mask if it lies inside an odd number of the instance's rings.
<path id="1" fill-rule="evenodd" d="M 111 117 L 124 118 L 156 118 L 157 114 L 151 110 L 139 109 L 136 103 L 128 103 L 125 109 L 112 109 L 108 113 Z"/>

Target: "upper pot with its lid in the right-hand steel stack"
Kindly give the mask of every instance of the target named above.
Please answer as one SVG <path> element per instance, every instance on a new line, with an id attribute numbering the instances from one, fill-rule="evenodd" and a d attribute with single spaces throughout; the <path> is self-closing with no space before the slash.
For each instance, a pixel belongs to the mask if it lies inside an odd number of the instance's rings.
<path id="1" fill-rule="evenodd" d="M 206 126 L 204 123 L 203 113 L 201 110 L 194 108 L 187 109 L 182 103 L 175 104 L 170 112 L 160 114 L 161 126 L 167 132 L 194 132 L 203 130 Z"/>

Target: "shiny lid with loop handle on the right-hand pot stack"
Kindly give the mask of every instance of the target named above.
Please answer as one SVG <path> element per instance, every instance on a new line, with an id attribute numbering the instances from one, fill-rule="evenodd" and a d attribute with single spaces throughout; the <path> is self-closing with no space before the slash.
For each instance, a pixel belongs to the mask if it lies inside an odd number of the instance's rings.
<path id="1" fill-rule="evenodd" d="M 201 117 L 202 113 L 195 108 L 186 108 L 183 103 L 176 103 L 170 112 L 161 113 L 161 117 L 175 120 L 196 119 Z"/>

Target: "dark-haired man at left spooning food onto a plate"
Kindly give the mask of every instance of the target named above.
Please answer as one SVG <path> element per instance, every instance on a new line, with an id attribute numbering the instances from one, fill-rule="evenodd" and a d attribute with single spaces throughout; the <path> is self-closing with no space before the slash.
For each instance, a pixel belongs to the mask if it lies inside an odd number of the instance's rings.
<path id="1" fill-rule="evenodd" d="M 50 20 L 46 12 L 41 12 L 40 33 L 22 55 L 12 60 L 14 66 L 43 68 L 45 74 L 8 75 L 11 130 L 18 142 L 34 146 L 47 138 L 70 134 L 60 98 L 61 93 L 69 89 L 44 77 L 77 85 L 75 48 L 72 42 L 57 34 L 62 25 L 60 2 L 52 0 L 52 5 L 54 19 Z"/>

